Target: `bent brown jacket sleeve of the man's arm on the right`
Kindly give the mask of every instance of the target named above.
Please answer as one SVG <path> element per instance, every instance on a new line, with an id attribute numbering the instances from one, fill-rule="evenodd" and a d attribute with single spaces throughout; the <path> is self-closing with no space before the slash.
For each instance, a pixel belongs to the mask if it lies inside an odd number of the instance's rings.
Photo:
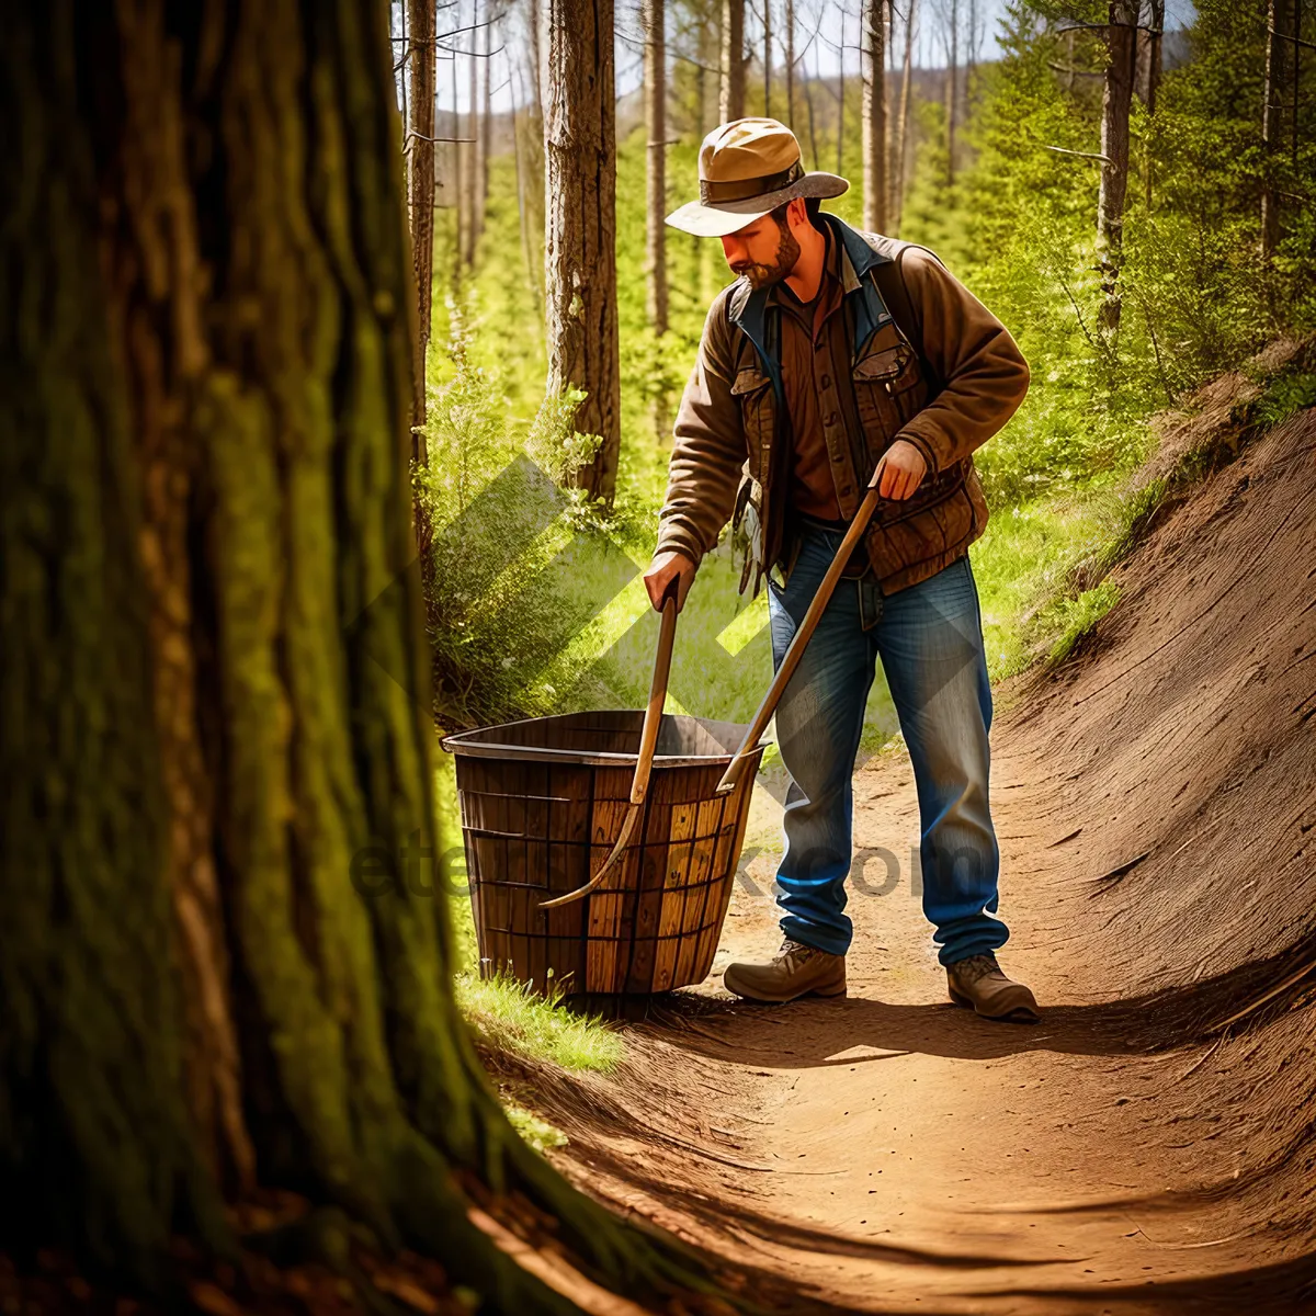
<path id="1" fill-rule="evenodd" d="M 1028 392 L 1029 370 L 1009 330 L 930 253 L 909 247 L 903 271 L 923 322 L 923 350 L 945 387 L 896 436 L 936 475 L 992 437 Z"/>

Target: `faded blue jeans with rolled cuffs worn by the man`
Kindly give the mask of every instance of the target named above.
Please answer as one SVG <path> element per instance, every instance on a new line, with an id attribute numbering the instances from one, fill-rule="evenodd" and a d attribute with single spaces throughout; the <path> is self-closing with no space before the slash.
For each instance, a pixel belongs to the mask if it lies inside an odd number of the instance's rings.
<path id="1" fill-rule="evenodd" d="M 769 579 L 776 666 L 840 544 L 840 533 L 808 529 L 784 588 Z M 875 580 L 842 578 L 786 687 L 776 711 L 791 775 L 776 874 L 782 930 L 833 954 L 850 946 L 851 776 L 878 655 L 913 762 L 923 911 L 950 965 L 1009 937 L 991 917 L 1000 871 L 987 801 L 992 703 L 967 554 L 886 597 Z"/>

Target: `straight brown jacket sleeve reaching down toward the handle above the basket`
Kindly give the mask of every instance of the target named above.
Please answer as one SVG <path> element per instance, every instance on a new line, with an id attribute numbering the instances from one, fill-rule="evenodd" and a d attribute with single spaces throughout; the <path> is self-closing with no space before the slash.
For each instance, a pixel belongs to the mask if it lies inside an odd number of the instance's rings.
<path id="1" fill-rule="evenodd" d="M 732 396 L 732 368 L 725 297 L 717 297 L 704 321 L 699 354 L 672 428 L 655 555 L 676 549 L 697 563 L 716 547 L 730 519 L 749 455 L 741 409 Z"/>

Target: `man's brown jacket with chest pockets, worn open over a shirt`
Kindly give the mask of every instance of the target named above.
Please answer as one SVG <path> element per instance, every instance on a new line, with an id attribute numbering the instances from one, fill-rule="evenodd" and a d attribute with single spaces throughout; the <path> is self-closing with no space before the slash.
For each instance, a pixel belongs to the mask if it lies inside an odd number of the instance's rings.
<path id="1" fill-rule="evenodd" d="M 1005 326 L 932 251 L 861 233 L 836 216 L 822 220 L 841 240 L 845 293 L 855 299 L 851 380 L 866 442 L 859 461 L 867 468 L 857 470 L 850 445 L 828 434 L 842 515 L 854 515 L 878 458 L 896 438 L 913 443 L 928 463 L 911 497 L 879 501 L 865 537 L 883 592 L 894 594 L 949 566 L 986 529 L 987 503 L 971 454 L 1024 400 L 1028 363 Z M 873 272 L 901 250 L 923 361 L 887 311 Z M 738 279 L 708 311 L 674 426 L 657 545 L 659 553 L 676 549 L 699 562 L 736 512 L 746 546 L 741 590 L 753 567 L 754 594 L 774 563 L 788 575 L 795 555 L 786 528 L 775 524 L 780 513 L 769 511 L 784 501 L 771 496 L 771 457 L 791 436 L 767 291 Z"/>

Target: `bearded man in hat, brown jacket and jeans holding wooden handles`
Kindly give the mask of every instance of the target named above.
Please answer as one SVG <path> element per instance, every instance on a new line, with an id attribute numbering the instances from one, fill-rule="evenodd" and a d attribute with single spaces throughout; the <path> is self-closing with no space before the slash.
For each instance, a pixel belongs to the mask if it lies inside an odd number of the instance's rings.
<path id="1" fill-rule="evenodd" d="M 700 199 L 667 222 L 720 237 L 740 278 L 715 299 L 682 397 L 658 545 L 654 607 L 733 520 L 741 591 L 769 574 L 779 666 L 866 487 L 880 501 L 776 712 L 791 776 L 778 904 L 786 941 L 733 963 L 740 996 L 845 995 L 851 925 L 851 775 L 882 658 L 913 762 L 923 907 L 951 1000 L 1037 1019 L 1000 970 L 1000 854 L 988 809 L 991 688 L 969 545 L 987 524 L 973 451 L 1011 417 L 1029 371 L 1013 338 L 926 249 L 861 233 L 819 209 L 849 183 L 805 172 L 772 118 L 715 129 Z M 775 572 L 775 575 L 772 574 Z"/>

